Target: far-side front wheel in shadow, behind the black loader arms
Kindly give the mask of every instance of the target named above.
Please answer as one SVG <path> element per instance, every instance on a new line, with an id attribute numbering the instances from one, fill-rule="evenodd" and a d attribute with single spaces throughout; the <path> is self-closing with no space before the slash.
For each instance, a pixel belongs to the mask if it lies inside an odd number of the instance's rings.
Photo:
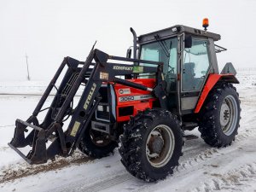
<path id="1" fill-rule="evenodd" d="M 78 148 L 84 154 L 100 159 L 113 153 L 113 149 L 117 146 L 118 143 L 112 141 L 108 134 L 88 128 L 84 132 L 84 137 L 81 139 Z"/>

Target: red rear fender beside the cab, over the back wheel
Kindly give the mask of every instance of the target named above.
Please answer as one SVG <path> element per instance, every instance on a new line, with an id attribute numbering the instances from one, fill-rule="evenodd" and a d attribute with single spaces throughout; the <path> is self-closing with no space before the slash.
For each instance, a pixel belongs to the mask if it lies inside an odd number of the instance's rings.
<path id="1" fill-rule="evenodd" d="M 209 92 L 212 90 L 214 85 L 217 84 L 217 82 L 239 84 L 239 81 L 233 74 L 210 74 L 207 79 L 207 83 L 205 84 L 203 90 L 201 91 L 201 96 L 195 107 L 195 113 L 200 112 L 201 107 L 204 104 L 205 100 L 207 99 Z"/>

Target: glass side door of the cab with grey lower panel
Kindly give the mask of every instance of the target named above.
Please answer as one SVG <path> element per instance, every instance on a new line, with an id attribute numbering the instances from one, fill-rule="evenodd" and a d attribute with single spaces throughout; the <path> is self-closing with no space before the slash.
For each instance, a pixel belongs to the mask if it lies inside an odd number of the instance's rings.
<path id="1" fill-rule="evenodd" d="M 210 68 L 209 40 L 192 38 L 191 48 L 183 49 L 181 61 L 180 109 L 193 113 Z"/>

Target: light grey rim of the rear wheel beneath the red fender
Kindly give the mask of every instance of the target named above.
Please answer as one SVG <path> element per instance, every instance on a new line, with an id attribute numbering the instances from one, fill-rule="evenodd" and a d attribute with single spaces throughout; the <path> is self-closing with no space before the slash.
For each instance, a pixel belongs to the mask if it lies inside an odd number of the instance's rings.
<path id="1" fill-rule="evenodd" d="M 234 96 L 226 96 L 220 109 L 220 125 L 225 135 L 230 136 L 236 129 L 237 105 Z"/>

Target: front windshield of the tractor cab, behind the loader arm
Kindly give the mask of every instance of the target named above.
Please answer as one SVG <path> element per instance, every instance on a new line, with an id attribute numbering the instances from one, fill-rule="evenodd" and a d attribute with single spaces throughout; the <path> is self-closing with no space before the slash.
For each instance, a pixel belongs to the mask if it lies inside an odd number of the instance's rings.
<path id="1" fill-rule="evenodd" d="M 140 59 L 164 62 L 164 74 L 177 73 L 177 38 L 158 40 L 154 43 L 143 44 Z M 143 66 L 155 67 L 147 63 Z"/>

